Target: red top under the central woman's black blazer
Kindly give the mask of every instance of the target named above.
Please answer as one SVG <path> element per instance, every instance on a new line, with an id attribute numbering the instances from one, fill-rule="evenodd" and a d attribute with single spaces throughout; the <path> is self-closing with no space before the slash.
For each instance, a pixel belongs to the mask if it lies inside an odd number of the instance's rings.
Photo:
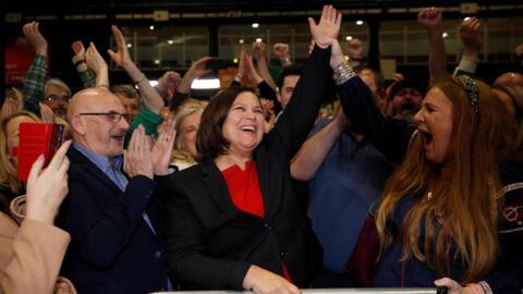
<path id="1" fill-rule="evenodd" d="M 265 218 L 264 198 L 258 182 L 258 169 L 256 162 L 245 162 L 243 171 L 236 164 L 221 171 L 226 179 L 229 194 L 234 206 L 247 213 Z M 284 278 L 292 283 L 291 275 L 287 270 L 285 264 L 281 262 Z"/>

